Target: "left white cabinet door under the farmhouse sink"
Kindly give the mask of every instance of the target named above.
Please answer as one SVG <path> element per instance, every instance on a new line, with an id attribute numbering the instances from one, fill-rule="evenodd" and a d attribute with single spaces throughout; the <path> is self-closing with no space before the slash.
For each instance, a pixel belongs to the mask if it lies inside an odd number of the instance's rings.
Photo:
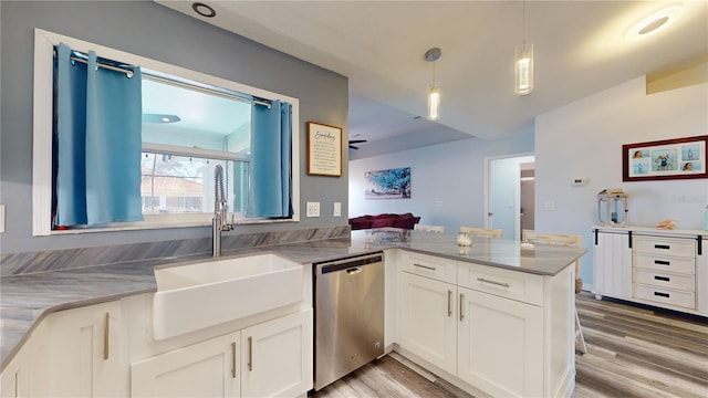
<path id="1" fill-rule="evenodd" d="M 239 397 L 240 334 L 231 333 L 131 366 L 132 397 Z"/>

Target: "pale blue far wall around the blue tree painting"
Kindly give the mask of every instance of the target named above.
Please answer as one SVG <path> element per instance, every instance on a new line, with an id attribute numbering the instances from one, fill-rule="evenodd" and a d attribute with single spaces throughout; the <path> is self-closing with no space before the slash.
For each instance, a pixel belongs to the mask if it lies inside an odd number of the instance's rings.
<path id="1" fill-rule="evenodd" d="M 513 138 L 470 138 L 350 161 L 348 217 L 384 212 L 412 212 L 420 223 L 445 226 L 457 232 L 460 226 L 485 226 L 485 160 L 487 157 L 532 153 L 532 126 Z M 364 172 L 410 167 L 410 199 L 364 199 Z"/>

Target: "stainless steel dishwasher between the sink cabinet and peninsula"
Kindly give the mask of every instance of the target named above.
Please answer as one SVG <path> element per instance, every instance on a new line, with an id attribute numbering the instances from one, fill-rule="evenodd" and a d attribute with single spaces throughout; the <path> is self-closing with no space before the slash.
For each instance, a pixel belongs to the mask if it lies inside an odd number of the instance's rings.
<path id="1" fill-rule="evenodd" d="M 384 354 L 384 253 L 313 265 L 320 390 Z"/>

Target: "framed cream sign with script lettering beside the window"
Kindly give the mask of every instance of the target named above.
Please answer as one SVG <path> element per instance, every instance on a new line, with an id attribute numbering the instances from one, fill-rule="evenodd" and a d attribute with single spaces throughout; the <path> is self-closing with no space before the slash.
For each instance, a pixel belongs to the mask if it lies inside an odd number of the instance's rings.
<path id="1" fill-rule="evenodd" d="M 308 122 L 308 174 L 342 177 L 342 128 Z"/>

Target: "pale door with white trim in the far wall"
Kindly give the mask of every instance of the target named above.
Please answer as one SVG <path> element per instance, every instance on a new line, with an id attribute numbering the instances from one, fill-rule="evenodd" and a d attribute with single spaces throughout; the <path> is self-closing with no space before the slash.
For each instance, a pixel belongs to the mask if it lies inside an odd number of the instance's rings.
<path id="1" fill-rule="evenodd" d="M 521 165 L 529 168 L 534 160 L 533 155 L 487 159 L 486 227 L 502 230 L 503 239 L 521 239 Z"/>

